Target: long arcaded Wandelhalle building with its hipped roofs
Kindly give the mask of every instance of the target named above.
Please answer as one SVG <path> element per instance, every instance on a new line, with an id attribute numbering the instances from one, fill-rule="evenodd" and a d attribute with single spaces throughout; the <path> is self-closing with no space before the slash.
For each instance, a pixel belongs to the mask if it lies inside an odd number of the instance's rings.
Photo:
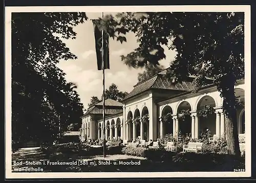
<path id="1" fill-rule="evenodd" d="M 205 86 L 194 91 L 193 76 L 172 84 L 166 79 L 166 69 L 134 86 L 121 101 L 105 100 L 106 139 L 120 137 L 132 142 L 137 137 L 153 140 L 166 134 L 190 134 L 199 139 L 208 128 L 214 137 L 225 133 L 223 98 L 217 86 L 207 79 Z M 244 101 L 244 80 L 237 81 L 235 95 Z M 199 115 L 205 106 L 213 111 L 207 117 Z M 103 139 L 102 102 L 88 109 L 82 118 L 82 139 Z M 182 119 L 181 114 L 187 117 Z M 237 109 L 238 132 L 245 133 L 244 107 Z M 167 117 L 166 117 L 167 116 Z M 169 117 L 168 117 L 169 116 Z M 166 120 L 167 119 L 167 120 Z"/>

